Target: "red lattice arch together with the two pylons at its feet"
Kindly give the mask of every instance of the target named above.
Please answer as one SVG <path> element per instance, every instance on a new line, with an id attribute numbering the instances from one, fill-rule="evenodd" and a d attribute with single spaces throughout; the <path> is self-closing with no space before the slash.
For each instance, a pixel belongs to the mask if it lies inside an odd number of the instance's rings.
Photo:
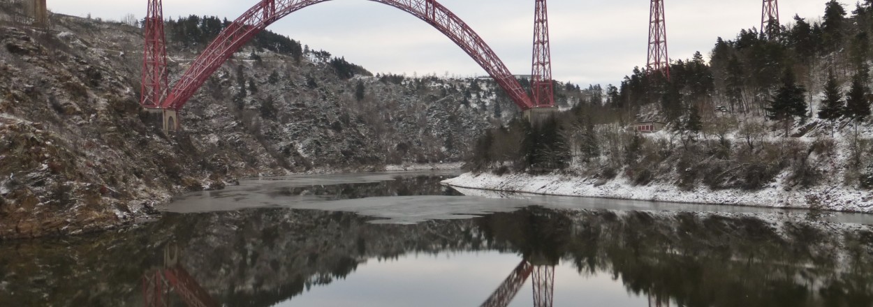
<path id="1" fill-rule="evenodd" d="M 164 128 L 178 127 L 176 113 L 225 61 L 267 26 L 307 6 L 330 0 L 260 0 L 230 23 L 191 63 L 182 78 L 168 85 L 162 0 L 148 0 L 141 105 L 164 113 Z M 532 91 L 528 93 L 476 31 L 436 0 L 369 0 L 408 12 L 430 24 L 463 49 L 494 78 L 522 111 L 554 106 L 552 58 L 546 0 L 534 0 Z M 168 115 L 169 114 L 169 115 Z"/>

